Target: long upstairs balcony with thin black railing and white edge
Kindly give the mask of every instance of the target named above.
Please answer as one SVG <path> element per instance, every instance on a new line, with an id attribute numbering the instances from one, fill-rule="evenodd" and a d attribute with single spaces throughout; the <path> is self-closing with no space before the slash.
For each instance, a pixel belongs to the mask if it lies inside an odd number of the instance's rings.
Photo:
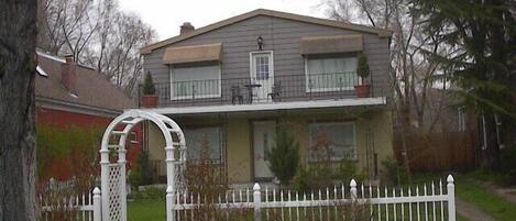
<path id="1" fill-rule="evenodd" d="M 158 106 L 166 114 L 245 112 L 381 106 L 386 96 L 370 82 L 367 98 L 358 98 L 354 71 L 267 78 L 230 78 L 156 84 Z"/>

